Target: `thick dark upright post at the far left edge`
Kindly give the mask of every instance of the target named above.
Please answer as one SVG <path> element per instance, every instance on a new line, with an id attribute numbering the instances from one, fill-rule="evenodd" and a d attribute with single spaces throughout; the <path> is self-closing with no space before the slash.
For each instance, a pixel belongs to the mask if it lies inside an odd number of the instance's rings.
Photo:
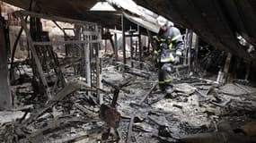
<path id="1" fill-rule="evenodd" d="M 12 96 L 8 80 L 7 45 L 4 26 L 4 18 L 0 15 L 0 110 L 9 109 L 12 106 Z"/>

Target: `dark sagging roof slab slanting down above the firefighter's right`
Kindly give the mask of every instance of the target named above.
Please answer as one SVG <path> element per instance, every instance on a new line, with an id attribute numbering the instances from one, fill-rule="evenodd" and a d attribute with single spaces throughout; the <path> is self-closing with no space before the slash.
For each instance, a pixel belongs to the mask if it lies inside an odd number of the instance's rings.
<path id="1" fill-rule="evenodd" d="M 237 34 L 256 46 L 256 4 L 245 1 L 203 1 L 203 0 L 135 0 L 155 13 L 171 19 L 175 23 L 195 30 L 201 38 L 217 48 L 248 60 L 255 58 L 241 46 Z"/>

